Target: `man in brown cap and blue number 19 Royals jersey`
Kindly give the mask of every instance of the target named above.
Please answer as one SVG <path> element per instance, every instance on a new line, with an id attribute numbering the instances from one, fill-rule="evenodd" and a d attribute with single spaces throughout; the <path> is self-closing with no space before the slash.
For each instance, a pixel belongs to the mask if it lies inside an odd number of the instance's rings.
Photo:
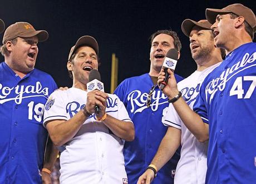
<path id="1" fill-rule="evenodd" d="M 56 150 L 50 139 L 46 148 L 48 134 L 42 115 L 43 106 L 57 85 L 49 74 L 34 68 L 37 43 L 47 38 L 45 30 L 35 30 L 27 22 L 16 22 L 4 32 L 4 62 L 0 63 L 0 183 L 50 182 L 48 173 L 56 158 L 43 159 L 45 149 L 46 155 Z"/>

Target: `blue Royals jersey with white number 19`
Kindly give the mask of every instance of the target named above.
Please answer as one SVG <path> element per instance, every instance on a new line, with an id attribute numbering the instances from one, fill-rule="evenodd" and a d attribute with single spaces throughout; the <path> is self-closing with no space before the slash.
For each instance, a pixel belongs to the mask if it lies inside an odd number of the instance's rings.
<path id="1" fill-rule="evenodd" d="M 48 135 L 43 107 L 56 88 L 52 77 L 40 70 L 21 79 L 0 63 L 0 183 L 42 183 Z"/>

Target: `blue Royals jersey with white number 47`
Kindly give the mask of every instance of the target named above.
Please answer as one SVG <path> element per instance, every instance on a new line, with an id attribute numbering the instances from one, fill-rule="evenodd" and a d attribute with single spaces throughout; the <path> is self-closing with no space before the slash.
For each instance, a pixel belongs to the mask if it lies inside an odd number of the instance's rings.
<path id="1" fill-rule="evenodd" d="M 194 110 L 209 123 L 206 183 L 256 182 L 256 44 L 229 53 L 204 80 Z"/>

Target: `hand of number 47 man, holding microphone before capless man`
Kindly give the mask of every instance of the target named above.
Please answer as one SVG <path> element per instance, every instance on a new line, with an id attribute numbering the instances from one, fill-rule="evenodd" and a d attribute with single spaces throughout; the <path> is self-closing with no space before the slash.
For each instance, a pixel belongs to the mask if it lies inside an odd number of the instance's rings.
<path id="1" fill-rule="evenodd" d="M 166 96 L 168 96 L 169 99 L 172 99 L 174 98 L 174 96 L 176 96 L 179 93 L 179 90 L 177 88 L 177 82 L 176 82 L 173 71 L 168 69 L 168 73 L 169 73 L 169 79 L 168 79 L 167 85 L 163 89 L 163 93 Z M 157 84 L 160 86 L 160 84 L 164 81 L 164 79 L 165 79 L 164 69 L 161 69 L 158 76 Z"/>

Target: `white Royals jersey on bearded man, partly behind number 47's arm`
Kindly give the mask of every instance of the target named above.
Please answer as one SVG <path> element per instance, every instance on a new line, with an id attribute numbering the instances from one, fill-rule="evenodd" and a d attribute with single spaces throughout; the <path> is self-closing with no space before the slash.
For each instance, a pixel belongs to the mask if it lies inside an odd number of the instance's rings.
<path id="1" fill-rule="evenodd" d="M 191 109 L 199 94 L 201 83 L 205 77 L 220 63 L 217 63 L 203 71 L 194 71 L 188 78 L 178 83 L 178 89 Z M 205 183 L 207 170 L 208 142 L 199 142 L 186 128 L 176 113 L 173 104 L 163 111 L 162 122 L 165 126 L 173 126 L 181 130 L 181 153 L 176 167 L 174 183 Z"/>

